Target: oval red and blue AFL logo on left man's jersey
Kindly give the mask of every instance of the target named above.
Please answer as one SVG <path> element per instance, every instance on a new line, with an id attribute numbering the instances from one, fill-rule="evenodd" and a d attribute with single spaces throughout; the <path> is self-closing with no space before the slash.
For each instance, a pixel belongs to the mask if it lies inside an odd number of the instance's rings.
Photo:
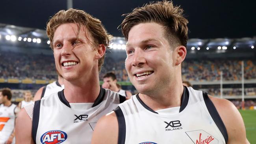
<path id="1" fill-rule="evenodd" d="M 59 130 L 47 131 L 40 140 L 42 144 L 60 144 L 67 139 L 67 133 Z"/>

